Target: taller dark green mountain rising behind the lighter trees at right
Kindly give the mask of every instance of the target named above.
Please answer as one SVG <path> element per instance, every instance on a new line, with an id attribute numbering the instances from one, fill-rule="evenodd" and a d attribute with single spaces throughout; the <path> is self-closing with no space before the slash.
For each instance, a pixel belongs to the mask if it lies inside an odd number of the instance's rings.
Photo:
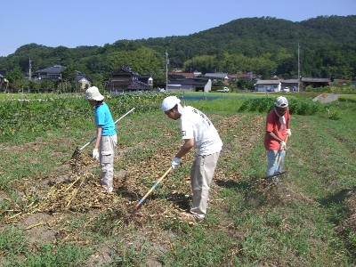
<path id="1" fill-rule="evenodd" d="M 262 53 L 277 53 L 283 47 L 295 53 L 297 44 L 312 51 L 330 45 L 355 47 L 355 40 L 356 16 L 322 16 L 301 22 L 271 17 L 239 19 L 190 36 L 136 42 L 152 48 L 165 47 L 171 51 L 174 62 L 182 63 L 195 55 L 220 52 L 255 57 Z M 175 58 L 175 53 L 180 57 Z"/>

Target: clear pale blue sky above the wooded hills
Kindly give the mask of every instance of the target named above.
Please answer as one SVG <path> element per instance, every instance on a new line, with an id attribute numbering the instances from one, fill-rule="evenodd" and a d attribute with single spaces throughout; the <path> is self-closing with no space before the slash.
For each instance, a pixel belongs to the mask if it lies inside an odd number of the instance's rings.
<path id="1" fill-rule="evenodd" d="M 356 0 L 0 0 L 0 56 L 24 44 L 74 48 L 187 36 L 241 18 L 356 14 Z"/>

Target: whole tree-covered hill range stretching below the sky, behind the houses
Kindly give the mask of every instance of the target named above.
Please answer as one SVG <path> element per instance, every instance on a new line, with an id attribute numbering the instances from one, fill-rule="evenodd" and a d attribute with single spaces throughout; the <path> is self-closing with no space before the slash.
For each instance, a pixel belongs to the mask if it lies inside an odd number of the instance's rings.
<path id="1" fill-rule="evenodd" d="M 297 51 L 304 77 L 354 79 L 356 72 L 356 15 L 321 16 L 301 22 L 271 17 L 232 20 L 189 36 L 118 40 L 101 46 L 47 47 L 26 44 L 0 57 L 0 69 L 16 66 L 43 69 L 55 63 L 74 66 L 88 76 L 107 75 L 120 64 L 162 78 L 165 53 L 171 69 L 238 73 L 254 71 L 295 77 Z M 95 77 L 92 77 L 95 79 Z"/>

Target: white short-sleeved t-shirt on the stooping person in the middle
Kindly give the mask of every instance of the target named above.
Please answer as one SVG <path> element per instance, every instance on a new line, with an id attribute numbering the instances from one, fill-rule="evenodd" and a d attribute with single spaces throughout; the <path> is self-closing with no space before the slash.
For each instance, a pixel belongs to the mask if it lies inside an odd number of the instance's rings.
<path id="1" fill-rule="evenodd" d="M 210 155 L 222 150 L 223 142 L 206 115 L 193 107 L 184 107 L 180 118 L 182 139 L 194 139 L 198 155 Z"/>

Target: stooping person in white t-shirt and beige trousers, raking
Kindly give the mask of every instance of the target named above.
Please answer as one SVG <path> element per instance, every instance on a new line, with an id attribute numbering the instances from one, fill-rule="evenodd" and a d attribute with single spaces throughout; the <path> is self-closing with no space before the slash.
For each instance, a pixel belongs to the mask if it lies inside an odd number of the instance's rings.
<path id="1" fill-rule="evenodd" d="M 162 102 L 162 110 L 167 117 L 180 120 L 182 131 L 181 149 L 172 159 L 172 168 L 181 163 L 181 158 L 192 148 L 197 155 L 190 168 L 190 184 L 193 193 L 193 205 L 190 208 L 190 218 L 194 221 L 203 220 L 206 216 L 209 200 L 210 183 L 213 180 L 215 167 L 223 148 L 214 125 L 200 110 L 187 106 L 182 107 L 180 99 L 168 96 Z"/>

